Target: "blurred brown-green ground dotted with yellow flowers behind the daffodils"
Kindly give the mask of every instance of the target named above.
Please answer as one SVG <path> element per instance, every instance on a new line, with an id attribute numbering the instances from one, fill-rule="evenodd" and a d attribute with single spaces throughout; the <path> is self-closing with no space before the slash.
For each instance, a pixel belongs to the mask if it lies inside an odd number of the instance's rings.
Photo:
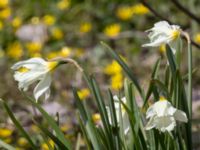
<path id="1" fill-rule="evenodd" d="M 31 57 L 47 60 L 58 56 L 70 57 L 96 77 L 102 91 L 110 88 L 118 94 L 123 89 L 125 76 L 117 62 L 112 60 L 101 46 L 100 41 L 104 41 L 131 66 L 140 84 L 146 89 L 157 58 L 162 58 L 163 65 L 166 64 L 166 59 L 164 46 L 141 47 L 148 42 L 144 31 L 151 28 L 155 22 L 166 19 L 189 32 L 195 43 L 193 130 L 194 139 L 197 141 L 195 144 L 198 144 L 200 1 L 180 1 L 197 20 L 188 16 L 175 2 L 176 0 L 0 0 L 0 97 L 9 103 L 18 120 L 38 145 L 41 145 L 41 149 L 46 150 L 48 147 L 38 134 L 40 131 L 32 118 L 45 122 L 24 100 L 10 67 L 17 61 Z M 183 46 L 183 74 L 187 70 L 186 60 L 186 49 Z M 72 95 L 74 86 L 78 87 L 79 96 L 90 104 L 92 111 L 96 113 L 94 119 L 98 120 L 95 104 L 82 75 L 71 65 L 57 68 L 53 73 L 50 99 L 41 99 L 39 103 L 55 118 L 59 116 L 66 138 L 76 143 L 80 129 Z M 30 89 L 28 95 L 32 95 L 31 91 Z M 18 149 L 29 149 L 27 141 L 15 129 L 3 107 L 0 109 L 0 139 Z M 84 146 L 84 142 L 82 144 Z"/>

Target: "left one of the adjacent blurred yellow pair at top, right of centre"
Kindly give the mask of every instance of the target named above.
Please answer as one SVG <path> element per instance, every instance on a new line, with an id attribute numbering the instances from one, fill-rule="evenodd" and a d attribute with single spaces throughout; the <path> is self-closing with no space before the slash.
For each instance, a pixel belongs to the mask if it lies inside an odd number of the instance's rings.
<path id="1" fill-rule="evenodd" d="M 116 11 L 116 16 L 121 20 L 129 20 L 133 17 L 132 8 L 129 6 L 119 7 Z"/>

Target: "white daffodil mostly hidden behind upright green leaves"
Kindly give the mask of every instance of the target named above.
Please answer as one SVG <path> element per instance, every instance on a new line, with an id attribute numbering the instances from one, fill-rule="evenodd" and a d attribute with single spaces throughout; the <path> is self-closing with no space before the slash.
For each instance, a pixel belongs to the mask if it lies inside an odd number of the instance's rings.
<path id="1" fill-rule="evenodd" d="M 130 126 L 128 115 L 126 114 L 124 107 L 120 103 L 118 96 L 117 95 L 113 96 L 113 99 L 114 99 L 114 107 L 115 107 L 115 112 L 116 112 L 117 123 L 120 124 L 120 118 L 122 116 L 124 134 L 127 134 L 128 131 L 129 131 L 129 126 Z M 122 100 L 123 103 L 126 104 L 126 98 L 125 97 L 123 97 L 121 100 Z M 107 113 L 108 113 L 109 122 L 112 125 L 110 108 L 108 106 L 106 106 L 106 110 L 107 110 Z"/>

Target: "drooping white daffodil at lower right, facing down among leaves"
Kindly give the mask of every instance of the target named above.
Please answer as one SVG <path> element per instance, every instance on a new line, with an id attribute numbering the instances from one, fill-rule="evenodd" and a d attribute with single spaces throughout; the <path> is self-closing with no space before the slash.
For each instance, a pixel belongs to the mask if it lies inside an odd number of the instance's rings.
<path id="1" fill-rule="evenodd" d="M 146 125 L 146 130 L 156 128 L 161 132 L 170 132 L 176 126 L 176 121 L 187 122 L 185 112 L 178 110 L 165 98 L 150 106 L 146 112 L 146 118 L 150 119 Z"/>

